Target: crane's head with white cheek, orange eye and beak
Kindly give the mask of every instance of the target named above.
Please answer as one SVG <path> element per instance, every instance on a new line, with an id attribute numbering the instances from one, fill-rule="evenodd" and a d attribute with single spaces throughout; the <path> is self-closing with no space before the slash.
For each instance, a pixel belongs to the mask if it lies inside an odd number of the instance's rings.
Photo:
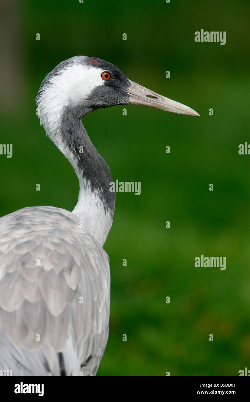
<path id="1" fill-rule="evenodd" d="M 52 111 L 58 119 L 65 108 L 83 117 L 96 109 L 126 104 L 199 116 L 190 107 L 130 81 L 114 64 L 87 56 L 71 57 L 55 67 L 43 80 L 36 101 L 41 124 Z"/>

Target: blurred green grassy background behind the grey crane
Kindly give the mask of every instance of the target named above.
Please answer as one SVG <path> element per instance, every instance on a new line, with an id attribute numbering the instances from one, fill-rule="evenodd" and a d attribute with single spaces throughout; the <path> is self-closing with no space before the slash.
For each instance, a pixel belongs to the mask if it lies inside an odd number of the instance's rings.
<path id="1" fill-rule="evenodd" d="M 128 105 L 127 116 L 116 106 L 83 119 L 113 180 L 141 182 L 140 197 L 117 194 L 104 245 L 110 335 L 98 375 L 250 369 L 250 156 L 238 154 L 250 142 L 249 1 L 1 0 L 0 8 L 0 142 L 13 144 L 12 158 L 0 156 L 1 216 L 77 202 L 73 168 L 36 116 L 39 85 L 62 60 L 100 57 L 200 113 Z M 226 45 L 196 43 L 201 29 L 226 31 Z M 195 268 L 201 254 L 226 256 L 226 270 Z"/>

